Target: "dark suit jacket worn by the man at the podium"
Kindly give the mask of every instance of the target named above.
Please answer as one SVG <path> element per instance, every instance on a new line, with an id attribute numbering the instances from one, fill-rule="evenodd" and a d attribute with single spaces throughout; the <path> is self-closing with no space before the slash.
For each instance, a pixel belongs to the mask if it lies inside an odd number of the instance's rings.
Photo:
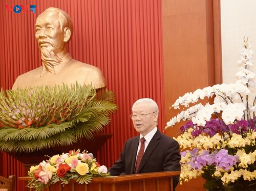
<path id="1" fill-rule="evenodd" d="M 134 174 L 138 145 L 139 136 L 125 142 L 120 158 L 109 169 L 111 175 Z M 144 152 L 138 173 L 180 171 L 180 159 L 178 142 L 157 130 Z M 174 177 L 174 187 L 178 182 L 179 177 Z"/>

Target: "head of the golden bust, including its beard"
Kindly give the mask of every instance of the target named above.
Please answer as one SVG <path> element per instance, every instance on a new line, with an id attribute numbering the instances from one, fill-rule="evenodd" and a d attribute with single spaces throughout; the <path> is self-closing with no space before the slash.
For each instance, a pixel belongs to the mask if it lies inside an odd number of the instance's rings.
<path id="1" fill-rule="evenodd" d="M 58 8 L 48 8 L 36 19 L 35 38 L 45 66 L 57 65 L 67 53 L 67 43 L 73 34 L 70 16 Z"/>

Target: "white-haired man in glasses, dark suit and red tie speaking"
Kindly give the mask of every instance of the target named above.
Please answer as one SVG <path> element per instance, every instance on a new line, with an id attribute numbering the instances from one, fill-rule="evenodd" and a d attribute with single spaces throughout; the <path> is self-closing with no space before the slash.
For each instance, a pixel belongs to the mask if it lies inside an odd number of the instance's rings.
<path id="1" fill-rule="evenodd" d="M 131 119 L 139 136 L 127 140 L 120 158 L 109 169 L 111 175 L 180 171 L 180 150 L 176 140 L 157 129 L 158 106 L 152 99 L 137 100 Z M 174 188 L 179 177 L 174 177 Z"/>

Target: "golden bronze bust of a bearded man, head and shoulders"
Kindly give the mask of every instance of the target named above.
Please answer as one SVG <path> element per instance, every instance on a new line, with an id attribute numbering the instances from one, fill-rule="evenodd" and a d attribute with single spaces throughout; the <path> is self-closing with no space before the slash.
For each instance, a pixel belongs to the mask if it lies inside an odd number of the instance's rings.
<path id="1" fill-rule="evenodd" d="M 102 71 L 72 59 L 67 43 L 72 37 L 70 16 L 58 8 L 48 8 L 36 19 L 35 38 L 41 51 L 42 66 L 17 77 L 12 89 L 78 83 L 95 89 L 106 86 Z"/>

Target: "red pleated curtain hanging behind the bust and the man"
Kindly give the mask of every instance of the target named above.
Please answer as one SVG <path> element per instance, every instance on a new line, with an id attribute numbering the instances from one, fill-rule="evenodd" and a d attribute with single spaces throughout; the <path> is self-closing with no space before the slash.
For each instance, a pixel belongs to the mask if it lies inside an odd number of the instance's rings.
<path id="1" fill-rule="evenodd" d="M 6 5 L 36 5 L 36 12 L 9 12 Z M 159 125 L 165 126 L 161 0 L 2 0 L 0 2 L 0 85 L 11 89 L 16 77 L 41 65 L 34 38 L 36 17 L 46 8 L 66 11 L 74 23 L 69 43 L 72 57 L 99 67 L 108 89 L 114 91 L 118 111 L 102 133 L 112 133 L 97 155 L 110 167 L 124 141 L 137 135 L 129 115 L 139 98 L 159 105 Z M 0 174 L 24 176 L 22 163 L 0 156 Z M 22 190 L 22 185 L 16 185 Z"/>

